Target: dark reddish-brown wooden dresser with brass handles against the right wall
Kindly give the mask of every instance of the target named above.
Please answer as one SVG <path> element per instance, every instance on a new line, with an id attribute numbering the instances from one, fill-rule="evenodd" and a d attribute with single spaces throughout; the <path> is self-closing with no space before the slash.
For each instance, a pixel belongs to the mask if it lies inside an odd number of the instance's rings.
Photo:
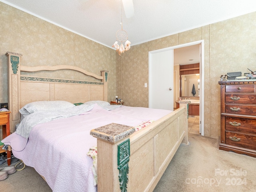
<path id="1" fill-rule="evenodd" d="M 219 81 L 220 147 L 256 157 L 256 80 Z"/>

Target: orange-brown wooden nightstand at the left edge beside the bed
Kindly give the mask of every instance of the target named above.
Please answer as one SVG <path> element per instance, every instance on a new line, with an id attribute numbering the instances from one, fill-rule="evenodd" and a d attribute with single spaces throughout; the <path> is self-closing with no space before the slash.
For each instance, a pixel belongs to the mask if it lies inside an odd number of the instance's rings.
<path id="1" fill-rule="evenodd" d="M 0 112 L 0 126 L 3 128 L 3 139 L 10 135 L 10 111 Z M 0 153 L 6 152 L 0 148 Z M 11 164 L 11 152 L 7 150 L 7 163 Z"/>

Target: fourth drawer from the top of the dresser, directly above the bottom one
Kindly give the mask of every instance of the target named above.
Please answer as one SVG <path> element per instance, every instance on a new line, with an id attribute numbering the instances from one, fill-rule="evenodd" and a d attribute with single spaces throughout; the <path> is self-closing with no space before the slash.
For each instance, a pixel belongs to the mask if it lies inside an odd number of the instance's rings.
<path id="1" fill-rule="evenodd" d="M 226 131 L 256 135 L 256 119 L 225 117 Z"/>

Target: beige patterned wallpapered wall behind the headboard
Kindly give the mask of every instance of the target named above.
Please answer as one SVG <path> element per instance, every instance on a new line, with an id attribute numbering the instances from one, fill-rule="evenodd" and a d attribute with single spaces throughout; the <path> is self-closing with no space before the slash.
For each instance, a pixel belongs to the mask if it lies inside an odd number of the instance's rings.
<path id="1" fill-rule="evenodd" d="M 108 100 L 116 95 L 116 53 L 115 50 L 68 30 L 50 24 L 0 2 L 0 102 L 8 102 L 7 51 L 22 54 L 21 64 L 72 65 L 101 75 L 108 70 Z M 23 74 L 26 74 L 23 72 Z M 38 72 L 37 76 L 67 79 L 81 79 L 82 74 L 62 72 Z M 81 80 L 97 81 L 94 78 Z M 82 102 L 82 101 L 81 101 Z"/>

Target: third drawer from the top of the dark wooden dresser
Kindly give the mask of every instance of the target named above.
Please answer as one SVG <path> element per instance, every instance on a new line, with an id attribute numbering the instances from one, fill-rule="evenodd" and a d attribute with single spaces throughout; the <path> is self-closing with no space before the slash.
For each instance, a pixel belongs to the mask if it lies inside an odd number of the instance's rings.
<path id="1" fill-rule="evenodd" d="M 225 112 L 228 114 L 255 115 L 255 105 L 225 105 Z"/>

